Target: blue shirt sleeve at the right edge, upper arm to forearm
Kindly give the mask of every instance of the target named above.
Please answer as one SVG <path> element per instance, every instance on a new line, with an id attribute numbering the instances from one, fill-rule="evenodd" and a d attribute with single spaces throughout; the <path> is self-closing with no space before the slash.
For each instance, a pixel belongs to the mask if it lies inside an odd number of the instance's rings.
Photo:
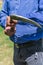
<path id="1" fill-rule="evenodd" d="M 43 0 L 39 0 L 38 2 L 38 10 L 34 11 L 30 14 L 31 18 L 37 20 L 38 23 L 43 25 Z"/>

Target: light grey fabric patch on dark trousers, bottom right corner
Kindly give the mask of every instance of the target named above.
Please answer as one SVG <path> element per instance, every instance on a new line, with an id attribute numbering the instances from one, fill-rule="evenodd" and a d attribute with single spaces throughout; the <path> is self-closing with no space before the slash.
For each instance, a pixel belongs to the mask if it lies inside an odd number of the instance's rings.
<path id="1" fill-rule="evenodd" d="M 27 65 L 43 65 L 42 53 L 35 53 L 28 57 L 25 61 L 27 62 Z"/>

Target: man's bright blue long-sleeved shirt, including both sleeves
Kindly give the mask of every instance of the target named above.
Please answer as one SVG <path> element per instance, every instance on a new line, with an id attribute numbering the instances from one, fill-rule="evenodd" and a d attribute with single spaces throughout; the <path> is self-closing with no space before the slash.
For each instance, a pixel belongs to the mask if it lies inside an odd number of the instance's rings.
<path id="1" fill-rule="evenodd" d="M 43 26 L 43 0 L 3 0 L 0 25 L 5 28 L 6 17 L 21 15 L 30 18 Z M 43 30 L 37 26 L 19 21 L 16 33 L 10 39 L 18 44 L 43 38 Z"/>

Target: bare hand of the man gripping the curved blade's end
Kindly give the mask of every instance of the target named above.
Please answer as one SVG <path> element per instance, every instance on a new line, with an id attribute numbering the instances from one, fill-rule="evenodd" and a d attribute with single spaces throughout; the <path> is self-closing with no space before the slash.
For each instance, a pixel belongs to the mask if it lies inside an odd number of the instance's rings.
<path id="1" fill-rule="evenodd" d="M 4 33 L 8 36 L 12 36 L 16 32 L 16 24 L 17 20 L 11 20 L 10 16 L 8 16 Z"/>

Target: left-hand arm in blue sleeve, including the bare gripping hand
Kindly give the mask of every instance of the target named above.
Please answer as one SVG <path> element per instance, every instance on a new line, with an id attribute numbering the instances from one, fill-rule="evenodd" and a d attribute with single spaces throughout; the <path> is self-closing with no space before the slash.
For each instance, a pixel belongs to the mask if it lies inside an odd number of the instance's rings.
<path id="1" fill-rule="evenodd" d="M 9 1 L 10 2 L 10 1 Z M 4 33 L 8 36 L 12 36 L 15 33 L 15 25 L 16 22 L 15 20 L 10 23 L 10 16 L 9 16 L 9 6 L 7 0 L 3 0 L 3 6 L 1 10 L 1 23 L 0 25 L 5 28 Z"/>

